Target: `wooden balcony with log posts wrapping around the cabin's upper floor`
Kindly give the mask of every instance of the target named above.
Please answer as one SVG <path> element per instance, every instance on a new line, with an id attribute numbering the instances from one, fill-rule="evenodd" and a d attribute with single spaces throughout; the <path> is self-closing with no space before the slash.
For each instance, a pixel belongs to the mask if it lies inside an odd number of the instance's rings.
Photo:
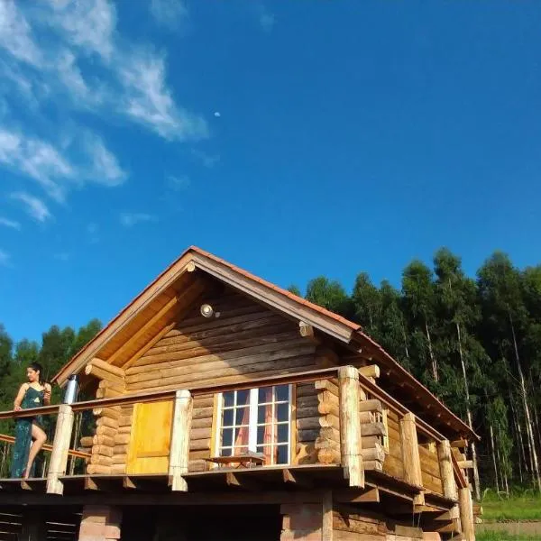
<path id="1" fill-rule="evenodd" d="M 234 499 L 326 486 L 349 501 L 380 501 L 383 491 L 426 509 L 454 508 L 467 486 L 452 448 L 460 443 L 381 390 L 378 375 L 375 366 L 343 366 L 0 412 L 50 417 L 54 433 L 41 472 L 28 480 L 9 478 L 14 439 L 0 437 L 0 489 L 188 492 L 208 501 L 212 492 Z"/>

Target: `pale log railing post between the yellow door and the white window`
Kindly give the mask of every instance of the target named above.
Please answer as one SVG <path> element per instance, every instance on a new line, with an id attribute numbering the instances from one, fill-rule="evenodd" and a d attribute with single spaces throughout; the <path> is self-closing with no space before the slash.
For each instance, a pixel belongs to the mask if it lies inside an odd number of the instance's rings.
<path id="1" fill-rule="evenodd" d="M 193 399 L 189 390 L 178 390 L 175 393 L 173 423 L 171 426 L 169 475 L 172 491 L 188 491 L 188 483 L 182 476 L 184 473 L 188 473 L 192 408 Z"/>

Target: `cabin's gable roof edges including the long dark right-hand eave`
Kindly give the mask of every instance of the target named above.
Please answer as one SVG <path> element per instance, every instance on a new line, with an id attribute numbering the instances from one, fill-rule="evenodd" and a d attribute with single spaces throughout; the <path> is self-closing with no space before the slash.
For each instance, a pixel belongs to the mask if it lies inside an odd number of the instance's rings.
<path id="1" fill-rule="evenodd" d="M 399 362 L 396 362 L 380 344 L 372 340 L 369 335 L 364 334 L 361 326 L 345 319 L 343 316 L 338 316 L 324 307 L 319 307 L 305 298 L 300 298 L 294 293 L 282 289 L 267 280 L 262 280 L 252 273 L 216 257 L 212 253 L 197 248 L 197 246 L 190 246 L 165 271 L 161 272 L 93 340 L 86 344 L 60 369 L 59 373 L 53 378 L 53 381 L 57 381 L 62 385 L 67 381 L 69 374 L 81 371 L 87 362 L 95 357 L 96 353 L 100 352 L 106 344 L 114 341 L 115 337 L 118 340 L 119 334 L 127 326 L 133 324 L 135 318 L 144 316 L 145 309 L 150 306 L 151 302 L 155 302 L 160 295 L 165 295 L 165 292 L 168 289 L 170 290 L 175 282 L 181 279 L 184 273 L 195 270 L 204 271 L 204 273 L 214 277 L 216 280 L 242 291 L 268 307 L 314 326 L 320 332 L 334 337 L 353 352 L 362 351 L 371 355 L 372 358 L 381 362 L 384 372 L 392 376 L 394 381 L 400 381 L 401 386 L 406 386 L 408 390 L 412 390 L 417 401 L 422 400 L 426 408 L 434 408 L 437 412 L 437 417 L 440 418 L 443 424 L 461 436 L 478 437 L 462 419 L 455 416 L 451 410 L 446 408 L 445 404 L 406 371 Z M 170 306 L 171 303 L 174 304 L 174 300 L 174 294 L 172 298 L 171 296 L 164 297 L 164 301 L 160 305 L 162 311 Z M 157 315 L 154 314 L 154 318 L 160 316 L 160 314 L 161 312 L 158 311 Z M 148 319 L 148 316 L 146 317 Z M 160 321 L 163 321 L 163 317 Z M 133 334 L 141 333 L 145 330 L 145 326 L 141 325 L 134 328 L 135 332 Z"/>

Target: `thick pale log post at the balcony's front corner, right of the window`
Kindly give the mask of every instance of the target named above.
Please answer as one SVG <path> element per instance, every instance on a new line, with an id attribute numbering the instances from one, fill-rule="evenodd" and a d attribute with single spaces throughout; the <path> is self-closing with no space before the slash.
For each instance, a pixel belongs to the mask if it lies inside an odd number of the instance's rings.
<path id="1" fill-rule="evenodd" d="M 350 487 L 364 488 L 362 467 L 359 371 L 354 366 L 338 369 L 340 382 L 340 449 L 344 474 Z"/>

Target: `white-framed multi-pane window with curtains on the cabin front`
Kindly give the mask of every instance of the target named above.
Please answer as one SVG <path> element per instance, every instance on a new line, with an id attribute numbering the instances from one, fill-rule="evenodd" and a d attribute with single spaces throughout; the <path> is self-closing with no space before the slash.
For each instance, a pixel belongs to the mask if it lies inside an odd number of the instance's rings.
<path id="1" fill-rule="evenodd" d="M 291 385 L 232 390 L 218 396 L 219 456 L 261 453 L 265 465 L 289 463 Z"/>

